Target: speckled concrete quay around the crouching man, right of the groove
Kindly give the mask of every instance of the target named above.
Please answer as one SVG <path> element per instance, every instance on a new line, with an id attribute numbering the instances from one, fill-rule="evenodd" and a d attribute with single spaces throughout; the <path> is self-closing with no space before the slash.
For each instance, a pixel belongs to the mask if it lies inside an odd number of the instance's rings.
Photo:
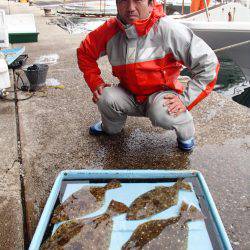
<path id="1" fill-rule="evenodd" d="M 88 128 L 100 115 L 76 64 L 75 52 L 83 35 L 70 35 L 57 26 L 48 25 L 48 18 L 37 7 L 12 5 L 13 12 L 36 16 L 39 42 L 25 44 L 29 63 L 41 56 L 57 54 L 59 59 L 49 64 L 47 78 L 57 79 L 65 86 L 65 89 L 38 92 L 18 103 L 29 239 L 61 170 L 197 169 L 205 177 L 232 246 L 249 249 L 249 109 L 212 93 L 192 110 L 197 147 L 189 154 L 176 148 L 173 131 L 153 128 L 146 118 L 128 118 L 120 135 L 92 137 Z M 117 83 L 107 58 L 100 59 L 99 65 L 105 81 Z M 25 95 L 19 93 L 18 96 Z M 11 110 L 13 112 L 13 107 Z M 9 133 L 15 134 L 15 131 Z M 3 136 L 1 134 L 1 138 Z M 15 150 L 14 145 L 12 149 Z M 6 159 L 10 165 L 11 157 L 6 155 Z M 16 187 L 18 185 L 16 183 Z M 2 217 L 1 213 L 1 218 L 9 228 L 22 227 L 21 221 L 8 219 L 12 212 L 4 211 L 6 216 Z M 8 239 L 8 234 L 4 237 Z"/>

